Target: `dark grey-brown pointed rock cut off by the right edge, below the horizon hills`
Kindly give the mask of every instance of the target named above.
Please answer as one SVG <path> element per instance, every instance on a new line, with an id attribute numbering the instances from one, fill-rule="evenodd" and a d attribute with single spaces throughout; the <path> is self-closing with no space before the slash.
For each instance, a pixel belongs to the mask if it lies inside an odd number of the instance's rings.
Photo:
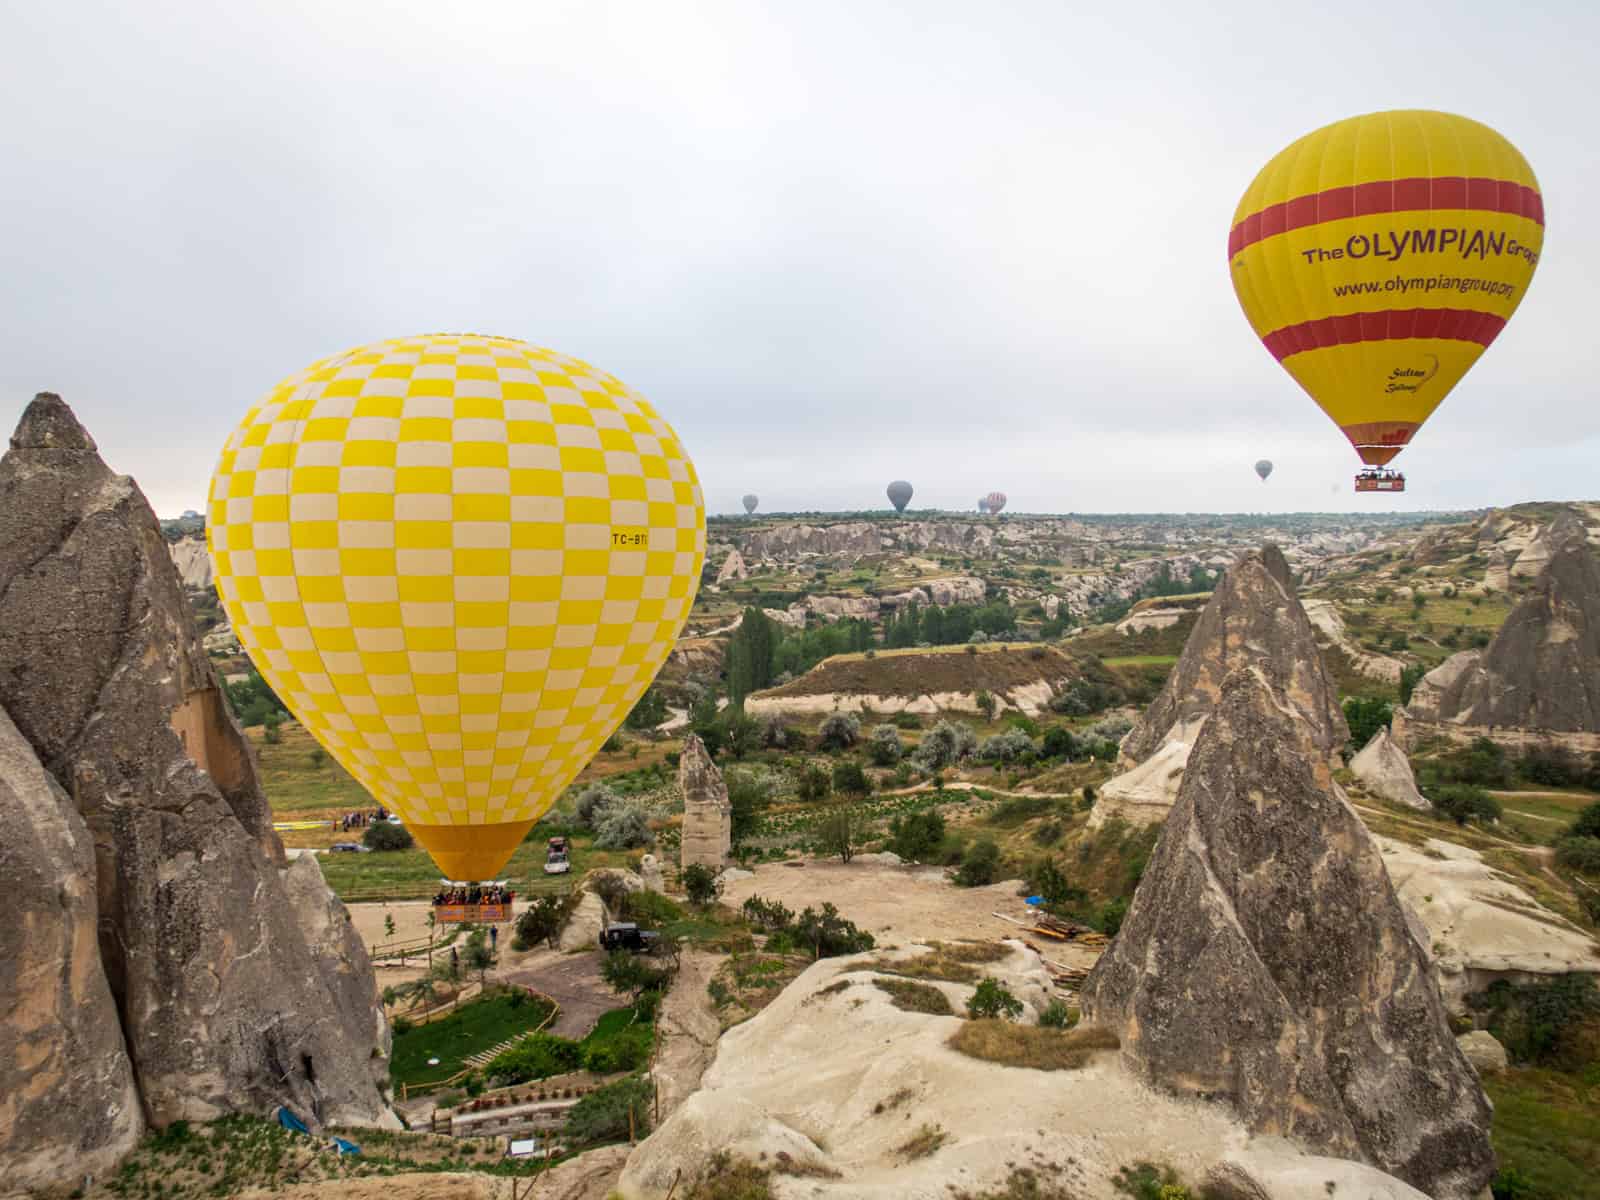
<path id="1" fill-rule="evenodd" d="M 1453 654 L 1422 677 L 1397 738 L 1504 733 L 1522 744 L 1574 734 L 1573 749 L 1600 749 L 1600 560 L 1573 514 L 1544 538 L 1550 554 L 1533 590 L 1488 648 Z"/>

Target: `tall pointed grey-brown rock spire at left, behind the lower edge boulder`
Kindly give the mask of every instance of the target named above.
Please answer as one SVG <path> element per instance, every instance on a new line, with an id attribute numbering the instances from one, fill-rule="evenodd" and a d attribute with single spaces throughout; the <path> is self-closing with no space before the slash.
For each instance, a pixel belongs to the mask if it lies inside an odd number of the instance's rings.
<path id="1" fill-rule="evenodd" d="M 99 960 L 146 1120 L 290 1104 L 392 1123 L 365 950 L 317 880 L 285 877 L 155 514 L 53 395 L 0 461 L 0 706 L 93 838 Z"/>

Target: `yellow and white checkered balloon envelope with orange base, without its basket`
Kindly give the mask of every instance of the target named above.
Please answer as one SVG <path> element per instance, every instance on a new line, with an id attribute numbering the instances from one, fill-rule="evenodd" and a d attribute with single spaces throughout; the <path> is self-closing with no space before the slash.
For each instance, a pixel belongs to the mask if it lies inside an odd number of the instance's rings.
<path id="1" fill-rule="evenodd" d="M 446 875 L 488 878 L 666 661 L 706 509 L 610 374 L 434 334 L 274 387 L 222 448 L 206 536 L 283 702 Z"/>

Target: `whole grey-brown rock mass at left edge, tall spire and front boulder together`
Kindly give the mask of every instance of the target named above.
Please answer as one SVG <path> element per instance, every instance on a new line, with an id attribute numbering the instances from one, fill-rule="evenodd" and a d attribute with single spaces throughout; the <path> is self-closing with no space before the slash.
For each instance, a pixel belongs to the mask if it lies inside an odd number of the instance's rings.
<path id="1" fill-rule="evenodd" d="M 3 878 L 35 914 L 3 926 L 6 1182 L 278 1104 L 394 1123 L 366 950 L 285 861 L 155 515 L 54 395 L 0 459 L 0 710 Z"/>

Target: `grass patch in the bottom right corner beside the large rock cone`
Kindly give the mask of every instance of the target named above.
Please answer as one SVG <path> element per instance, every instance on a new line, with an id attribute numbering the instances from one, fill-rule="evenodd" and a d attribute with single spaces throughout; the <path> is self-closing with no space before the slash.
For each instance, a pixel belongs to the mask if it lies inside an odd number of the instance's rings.
<path id="1" fill-rule="evenodd" d="M 1526 1184 L 1518 1200 L 1600 1200 L 1600 1064 L 1581 1075 L 1517 1069 L 1486 1075 L 1501 1171 Z"/>

